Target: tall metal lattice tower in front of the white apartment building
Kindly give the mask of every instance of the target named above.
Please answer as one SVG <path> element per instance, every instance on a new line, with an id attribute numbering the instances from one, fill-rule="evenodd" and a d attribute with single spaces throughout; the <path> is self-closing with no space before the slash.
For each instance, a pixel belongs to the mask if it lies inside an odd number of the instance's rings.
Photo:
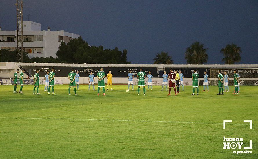
<path id="1" fill-rule="evenodd" d="M 23 62 L 23 28 L 22 28 L 22 4 L 23 1 L 22 0 L 16 0 L 16 11 L 17 11 L 17 62 Z"/>

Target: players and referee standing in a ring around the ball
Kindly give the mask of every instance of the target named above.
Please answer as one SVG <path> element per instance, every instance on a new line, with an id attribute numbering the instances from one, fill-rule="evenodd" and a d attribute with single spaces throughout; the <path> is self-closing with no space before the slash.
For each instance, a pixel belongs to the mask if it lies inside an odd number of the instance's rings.
<path id="1" fill-rule="evenodd" d="M 24 83 L 24 75 L 25 69 L 22 69 L 22 72 L 19 75 L 19 80 L 20 80 L 20 90 L 19 93 L 23 94 L 22 92 L 22 88 L 23 88 L 23 83 Z M 238 73 L 236 73 L 237 71 L 234 71 L 234 86 L 235 86 L 235 91 L 233 94 L 238 94 L 240 91 L 239 88 L 239 79 L 240 79 L 240 75 Z M 19 69 L 16 70 L 16 72 L 14 73 L 14 93 L 17 93 L 16 89 L 17 89 L 17 77 L 19 73 Z M 218 71 L 218 87 L 219 87 L 219 93 L 218 95 L 222 94 L 223 95 L 223 83 L 225 86 L 225 90 L 224 92 L 226 92 L 226 89 L 228 89 L 227 92 L 229 92 L 229 87 L 228 87 L 228 80 L 229 77 L 227 75 L 227 72 L 224 72 L 224 76 L 222 75 L 221 71 Z M 97 78 L 99 79 L 98 81 L 98 95 L 99 95 L 99 91 L 100 88 L 102 88 L 103 90 L 103 95 L 105 94 L 105 82 L 104 82 L 104 78 L 105 78 L 105 72 L 103 72 L 103 68 L 100 69 L 100 71 L 97 73 Z M 50 94 L 50 88 L 52 87 L 52 94 L 55 95 L 54 93 L 54 77 L 55 77 L 55 73 L 54 73 L 54 68 L 52 68 L 51 72 L 47 72 L 47 74 L 44 77 L 45 80 L 45 88 L 44 91 L 48 91 L 48 94 Z M 68 74 L 68 79 L 69 79 L 69 88 L 68 88 L 68 95 L 70 95 L 70 89 L 71 87 L 74 87 L 74 92 L 75 95 L 76 94 L 76 85 L 77 85 L 77 90 L 79 91 L 79 71 L 76 71 L 75 73 L 75 69 L 72 68 L 71 72 Z M 111 71 L 109 71 L 109 73 L 107 74 L 107 90 L 108 90 L 108 86 L 111 86 L 111 90 L 112 89 L 112 77 L 113 75 L 111 74 Z M 134 90 L 133 88 L 133 78 L 134 78 L 134 74 L 129 71 L 128 73 L 128 91 L 130 90 L 130 85 L 132 85 L 132 90 Z M 90 85 L 92 85 L 93 90 L 95 90 L 94 88 L 94 78 L 95 76 L 93 75 L 93 73 L 91 72 L 89 75 L 89 88 L 88 90 L 90 90 Z M 145 95 L 145 82 L 144 79 L 146 78 L 146 74 L 145 72 L 142 71 L 142 69 L 140 69 L 140 72 L 137 73 L 137 79 L 138 80 L 138 94 L 139 95 L 139 91 L 140 91 L 140 86 L 143 87 L 143 95 Z M 167 91 L 167 83 L 168 83 L 168 79 L 169 79 L 169 94 L 171 92 L 171 87 L 174 88 L 175 91 L 175 95 L 177 95 L 177 93 L 179 93 L 179 86 L 182 86 L 183 90 L 184 90 L 184 85 L 183 85 L 183 79 L 184 79 L 184 75 L 181 71 L 175 70 L 175 72 L 173 72 L 173 69 L 170 69 L 170 73 L 166 74 L 166 71 L 164 71 L 164 74 L 162 75 L 163 81 L 162 81 L 162 89 L 161 91 L 164 90 L 164 85 L 166 86 L 166 91 Z M 147 79 L 148 79 L 148 89 L 149 90 L 149 86 L 151 87 L 151 91 L 152 91 L 152 79 L 153 76 L 151 75 L 151 72 L 149 71 L 149 74 L 147 75 Z M 195 95 L 195 88 L 197 89 L 197 95 L 199 95 L 199 88 L 198 88 L 198 79 L 199 79 L 199 74 L 197 73 L 197 70 L 194 70 L 194 73 L 192 74 L 192 80 L 193 80 L 193 93 L 192 95 Z M 205 87 L 207 87 L 207 91 L 209 91 L 209 87 L 208 87 L 208 80 L 209 77 L 207 75 L 207 72 L 204 72 L 204 90 L 205 91 Z M 176 88 L 177 87 L 177 90 Z M 37 88 L 37 93 L 35 93 L 35 89 Z M 221 93 L 222 91 L 222 93 Z M 36 73 L 34 75 L 34 89 L 33 89 L 33 94 L 40 94 L 39 93 L 39 70 L 36 70 Z"/>

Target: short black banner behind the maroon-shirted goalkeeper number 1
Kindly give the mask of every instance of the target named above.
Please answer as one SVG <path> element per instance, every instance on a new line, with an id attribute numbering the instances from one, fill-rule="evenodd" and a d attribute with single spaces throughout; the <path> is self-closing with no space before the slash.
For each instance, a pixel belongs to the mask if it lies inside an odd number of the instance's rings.
<path id="1" fill-rule="evenodd" d="M 182 71 L 184 78 L 192 78 L 192 74 L 193 74 L 193 70 L 197 69 L 197 73 L 199 74 L 199 77 L 203 77 L 202 75 L 204 75 L 204 71 L 207 71 L 207 75 L 209 75 L 210 73 L 210 69 L 209 68 L 172 68 L 173 71 L 177 70 L 178 73 L 179 71 Z M 170 68 L 165 68 L 166 73 L 168 74 L 170 72 Z M 162 77 L 164 71 L 159 71 L 159 77 Z"/>

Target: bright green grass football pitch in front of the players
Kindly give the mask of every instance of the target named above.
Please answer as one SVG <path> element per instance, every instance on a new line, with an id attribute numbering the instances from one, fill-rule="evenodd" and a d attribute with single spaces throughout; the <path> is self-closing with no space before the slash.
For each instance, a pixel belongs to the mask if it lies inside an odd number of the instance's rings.
<path id="1" fill-rule="evenodd" d="M 241 86 L 238 95 L 232 86 L 224 95 L 210 86 L 199 96 L 185 86 L 170 97 L 161 86 L 146 96 L 142 88 L 140 96 L 137 88 L 126 93 L 127 86 L 115 85 L 107 96 L 87 88 L 68 96 L 68 85 L 55 86 L 57 95 L 40 86 L 41 95 L 33 95 L 33 86 L 25 85 L 22 95 L 0 86 L 0 158 L 258 157 L 256 86 Z M 223 129 L 223 120 L 232 124 Z M 252 129 L 243 120 L 252 120 Z M 223 149 L 223 136 L 243 138 L 243 147 L 252 140 L 252 154 Z"/>

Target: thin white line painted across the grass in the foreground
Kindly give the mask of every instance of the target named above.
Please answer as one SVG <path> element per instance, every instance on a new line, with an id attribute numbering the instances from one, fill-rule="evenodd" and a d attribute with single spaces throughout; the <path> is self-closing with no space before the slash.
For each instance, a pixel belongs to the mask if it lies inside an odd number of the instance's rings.
<path id="1" fill-rule="evenodd" d="M 118 120 L 118 119 L 67 119 L 67 118 L 22 118 L 22 117 L 0 117 L 1 119 L 41 119 L 41 120 L 86 120 L 86 121 L 130 121 L 130 122 L 152 122 L 152 123 L 186 123 L 186 124 L 223 124 L 223 123 L 199 123 L 184 121 L 148 121 L 148 120 Z M 247 125 L 247 124 L 228 124 Z"/>

